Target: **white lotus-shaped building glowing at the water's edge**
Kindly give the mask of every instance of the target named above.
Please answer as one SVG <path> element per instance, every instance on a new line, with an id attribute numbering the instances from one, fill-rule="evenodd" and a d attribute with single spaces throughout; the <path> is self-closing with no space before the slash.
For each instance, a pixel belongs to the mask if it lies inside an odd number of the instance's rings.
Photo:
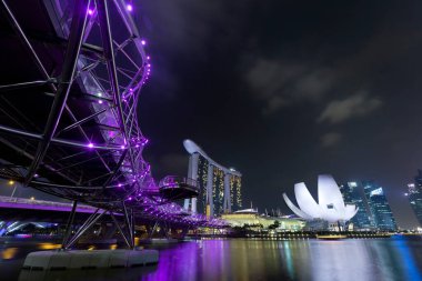
<path id="1" fill-rule="evenodd" d="M 318 200 L 312 198 L 303 182 L 294 184 L 294 195 L 299 208 L 283 193 L 289 208 L 305 220 L 326 220 L 328 222 L 346 222 L 353 218 L 358 209 L 354 204 L 344 204 L 343 197 L 333 177 L 320 174 L 318 177 Z"/>

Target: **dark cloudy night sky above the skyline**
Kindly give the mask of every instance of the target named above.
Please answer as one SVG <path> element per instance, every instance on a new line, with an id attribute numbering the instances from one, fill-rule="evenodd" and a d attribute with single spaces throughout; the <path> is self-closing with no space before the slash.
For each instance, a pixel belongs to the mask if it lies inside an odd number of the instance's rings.
<path id="1" fill-rule="evenodd" d="M 139 114 L 153 174 L 187 174 L 190 138 L 243 173 L 243 201 L 319 173 L 373 179 L 400 227 L 422 168 L 421 1 L 135 2 L 152 78 Z"/>

